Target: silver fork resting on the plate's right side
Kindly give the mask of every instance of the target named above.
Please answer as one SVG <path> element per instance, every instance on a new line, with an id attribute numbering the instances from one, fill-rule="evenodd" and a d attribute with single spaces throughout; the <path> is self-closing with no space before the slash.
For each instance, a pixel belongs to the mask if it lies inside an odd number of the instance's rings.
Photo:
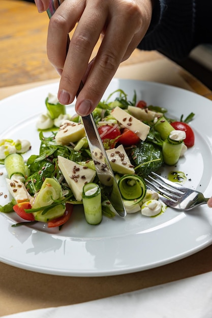
<path id="1" fill-rule="evenodd" d="M 155 172 L 151 172 L 144 180 L 147 187 L 158 192 L 163 203 L 177 210 L 191 210 L 207 203 L 209 199 L 201 192 L 171 182 Z"/>

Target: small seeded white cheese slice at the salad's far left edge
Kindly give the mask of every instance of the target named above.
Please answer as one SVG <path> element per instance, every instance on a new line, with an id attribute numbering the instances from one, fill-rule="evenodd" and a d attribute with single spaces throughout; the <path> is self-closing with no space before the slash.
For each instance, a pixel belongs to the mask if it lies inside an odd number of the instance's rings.
<path id="1" fill-rule="evenodd" d="M 25 185 L 18 179 L 7 179 L 7 186 L 10 194 L 17 203 L 29 201 L 32 197 L 27 192 Z"/>

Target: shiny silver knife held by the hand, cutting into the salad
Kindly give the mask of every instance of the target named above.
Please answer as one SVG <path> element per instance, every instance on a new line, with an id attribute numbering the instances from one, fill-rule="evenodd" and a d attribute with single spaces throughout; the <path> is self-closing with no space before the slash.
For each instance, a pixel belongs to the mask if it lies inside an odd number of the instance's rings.
<path id="1" fill-rule="evenodd" d="M 57 0 L 57 1 L 50 0 L 49 8 L 47 9 L 47 14 L 49 19 L 54 14 L 54 12 L 59 7 L 59 5 L 60 5 L 60 0 Z M 70 38 L 68 36 L 67 51 L 69 48 L 69 43 L 70 43 Z M 82 87 L 83 87 L 83 83 L 81 81 L 76 97 L 78 96 Z M 101 184 L 105 186 L 108 199 L 110 200 L 112 206 L 114 207 L 118 215 L 124 217 L 126 216 L 127 212 L 126 212 L 117 182 L 115 180 L 115 176 L 110 166 L 107 153 L 105 151 L 104 145 L 102 143 L 99 132 L 97 130 L 97 126 L 95 124 L 93 115 L 89 114 L 87 116 L 83 116 L 82 122 L 84 125 L 88 146 L 90 148 L 90 154 L 94 161 L 98 178 Z"/>

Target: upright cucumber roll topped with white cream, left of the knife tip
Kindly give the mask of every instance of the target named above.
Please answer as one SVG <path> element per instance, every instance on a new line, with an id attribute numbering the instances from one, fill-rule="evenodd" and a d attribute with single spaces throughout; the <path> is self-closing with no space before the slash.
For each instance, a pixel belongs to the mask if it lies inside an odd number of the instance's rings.
<path id="1" fill-rule="evenodd" d="M 98 184 L 89 182 L 83 186 L 82 202 L 88 224 L 99 224 L 102 221 L 102 203 L 101 189 Z"/>

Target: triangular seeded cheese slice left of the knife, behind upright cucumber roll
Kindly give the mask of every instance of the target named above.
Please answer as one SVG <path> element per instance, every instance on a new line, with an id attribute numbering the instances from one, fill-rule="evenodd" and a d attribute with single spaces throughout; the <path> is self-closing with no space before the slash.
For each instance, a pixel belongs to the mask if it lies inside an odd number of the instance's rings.
<path id="1" fill-rule="evenodd" d="M 77 201 L 82 201 L 83 186 L 87 182 L 92 182 L 96 171 L 90 168 L 77 165 L 75 162 L 58 156 L 58 166 L 70 186 Z"/>

